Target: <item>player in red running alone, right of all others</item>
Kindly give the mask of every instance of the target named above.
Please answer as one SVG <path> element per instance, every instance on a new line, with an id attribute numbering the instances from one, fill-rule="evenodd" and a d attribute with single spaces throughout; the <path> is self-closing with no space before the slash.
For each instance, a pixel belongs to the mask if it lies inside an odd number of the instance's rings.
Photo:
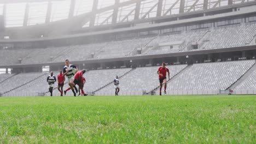
<path id="1" fill-rule="evenodd" d="M 162 95 L 162 84 L 164 82 L 165 85 L 165 94 L 166 94 L 166 87 L 167 87 L 167 80 L 166 80 L 166 72 L 168 73 L 168 79 L 170 79 L 170 71 L 168 68 L 165 67 L 165 63 L 162 63 L 162 67 L 158 68 L 158 75 L 159 75 L 159 82 L 160 82 L 160 95 Z"/>

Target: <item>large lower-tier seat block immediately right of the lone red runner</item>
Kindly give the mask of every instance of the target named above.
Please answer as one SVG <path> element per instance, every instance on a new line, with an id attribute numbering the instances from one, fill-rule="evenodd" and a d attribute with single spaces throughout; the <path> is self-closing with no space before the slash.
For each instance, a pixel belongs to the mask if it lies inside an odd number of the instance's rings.
<path id="1" fill-rule="evenodd" d="M 166 91 L 225 90 L 254 63 L 255 60 L 193 64 L 169 81 Z"/>

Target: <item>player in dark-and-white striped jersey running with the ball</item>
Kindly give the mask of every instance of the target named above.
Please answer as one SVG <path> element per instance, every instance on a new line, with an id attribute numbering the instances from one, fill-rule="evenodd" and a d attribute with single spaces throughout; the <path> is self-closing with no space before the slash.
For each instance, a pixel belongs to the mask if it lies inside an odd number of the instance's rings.
<path id="1" fill-rule="evenodd" d="M 75 84 L 74 84 L 74 74 L 77 73 L 77 67 L 75 65 L 73 65 L 73 64 L 69 64 L 68 59 L 66 59 L 65 62 L 66 62 L 66 65 L 63 68 L 63 74 L 67 76 L 68 85 L 69 85 L 70 88 L 67 88 L 64 91 L 64 94 L 66 95 L 66 92 L 69 89 L 72 89 L 72 92 L 74 93 L 74 97 L 75 97 L 76 93 L 78 92 L 78 89 L 75 87 Z M 75 91 L 74 91 L 74 89 L 75 89 Z"/>

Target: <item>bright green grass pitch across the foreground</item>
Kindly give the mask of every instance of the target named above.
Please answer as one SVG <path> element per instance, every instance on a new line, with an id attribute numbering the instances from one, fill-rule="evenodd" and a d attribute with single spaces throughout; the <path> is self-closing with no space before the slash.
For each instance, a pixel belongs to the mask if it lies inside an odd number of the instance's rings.
<path id="1" fill-rule="evenodd" d="M 0 98 L 0 143 L 256 143 L 252 95 Z"/>

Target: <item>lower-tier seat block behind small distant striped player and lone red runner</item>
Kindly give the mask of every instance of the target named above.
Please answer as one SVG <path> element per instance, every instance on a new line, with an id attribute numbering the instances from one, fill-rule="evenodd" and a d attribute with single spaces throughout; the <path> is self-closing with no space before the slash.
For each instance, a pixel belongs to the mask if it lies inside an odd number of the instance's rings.
<path id="1" fill-rule="evenodd" d="M 167 68 L 170 69 L 170 79 L 174 75 L 182 71 L 187 64 L 183 65 L 168 65 Z M 158 74 L 156 71 L 159 67 L 142 67 L 132 70 L 130 73 L 121 77 L 120 80 L 120 91 L 122 92 L 142 92 L 146 93 L 153 91 L 159 86 Z M 114 80 L 114 79 L 113 79 Z M 108 86 L 97 91 L 96 94 L 114 92 L 113 82 Z"/>

